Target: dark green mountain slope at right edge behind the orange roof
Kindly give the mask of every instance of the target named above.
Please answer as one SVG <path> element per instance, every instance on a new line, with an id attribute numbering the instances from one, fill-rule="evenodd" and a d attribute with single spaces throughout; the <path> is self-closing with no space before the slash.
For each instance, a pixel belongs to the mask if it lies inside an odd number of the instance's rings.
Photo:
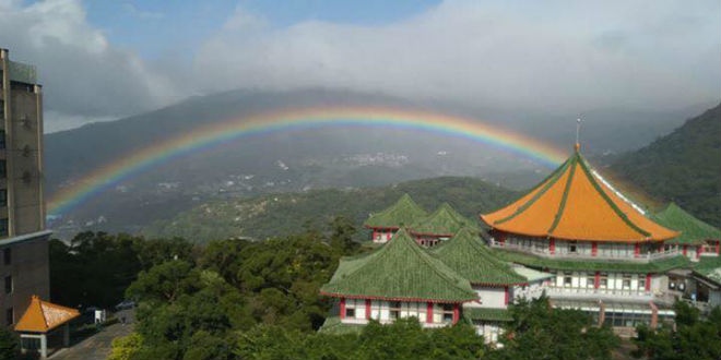
<path id="1" fill-rule="evenodd" d="M 661 202 L 675 202 L 721 226 L 721 105 L 619 156 L 611 171 Z"/>

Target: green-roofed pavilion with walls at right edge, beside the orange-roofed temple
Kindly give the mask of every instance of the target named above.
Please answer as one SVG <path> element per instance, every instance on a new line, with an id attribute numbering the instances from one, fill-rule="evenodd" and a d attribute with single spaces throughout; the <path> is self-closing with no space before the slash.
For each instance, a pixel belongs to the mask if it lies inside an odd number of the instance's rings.
<path id="1" fill-rule="evenodd" d="M 682 253 L 694 261 L 698 261 L 701 255 L 719 256 L 721 230 L 696 218 L 678 205 L 670 203 L 654 215 L 654 219 L 667 228 L 681 231 L 678 237 L 665 242 L 666 250 L 681 248 Z"/>

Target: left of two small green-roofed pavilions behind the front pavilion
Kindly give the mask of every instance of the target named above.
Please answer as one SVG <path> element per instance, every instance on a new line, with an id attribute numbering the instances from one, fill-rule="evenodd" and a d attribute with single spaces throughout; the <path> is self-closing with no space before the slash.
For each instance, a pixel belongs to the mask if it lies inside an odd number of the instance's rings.
<path id="1" fill-rule="evenodd" d="M 403 194 L 395 204 L 380 213 L 371 214 L 364 226 L 373 230 L 374 242 L 383 243 L 390 240 L 402 226 L 409 226 L 427 215 L 426 211 L 418 206 L 409 194 Z"/>

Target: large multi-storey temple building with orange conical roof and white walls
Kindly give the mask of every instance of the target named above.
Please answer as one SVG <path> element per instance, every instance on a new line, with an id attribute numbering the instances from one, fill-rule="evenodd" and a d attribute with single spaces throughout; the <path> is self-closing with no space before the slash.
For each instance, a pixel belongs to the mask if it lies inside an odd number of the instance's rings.
<path id="1" fill-rule="evenodd" d="M 673 317 L 687 288 L 689 262 L 665 242 L 669 229 L 574 154 L 518 201 L 481 215 L 489 244 L 506 261 L 555 274 L 546 293 L 556 307 L 581 309 L 599 323 L 633 332 Z"/>

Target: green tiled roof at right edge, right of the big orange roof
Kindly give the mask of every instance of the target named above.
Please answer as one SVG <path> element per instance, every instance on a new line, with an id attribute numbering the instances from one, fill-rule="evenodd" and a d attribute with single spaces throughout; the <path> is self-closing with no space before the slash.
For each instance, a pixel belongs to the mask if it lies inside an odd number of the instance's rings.
<path id="1" fill-rule="evenodd" d="M 696 218 L 674 203 L 657 213 L 654 219 L 670 229 L 681 231 L 678 237 L 666 241 L 667 243 L 700 244 L 704 240 L 721 239 L 721 230 Z"/>

